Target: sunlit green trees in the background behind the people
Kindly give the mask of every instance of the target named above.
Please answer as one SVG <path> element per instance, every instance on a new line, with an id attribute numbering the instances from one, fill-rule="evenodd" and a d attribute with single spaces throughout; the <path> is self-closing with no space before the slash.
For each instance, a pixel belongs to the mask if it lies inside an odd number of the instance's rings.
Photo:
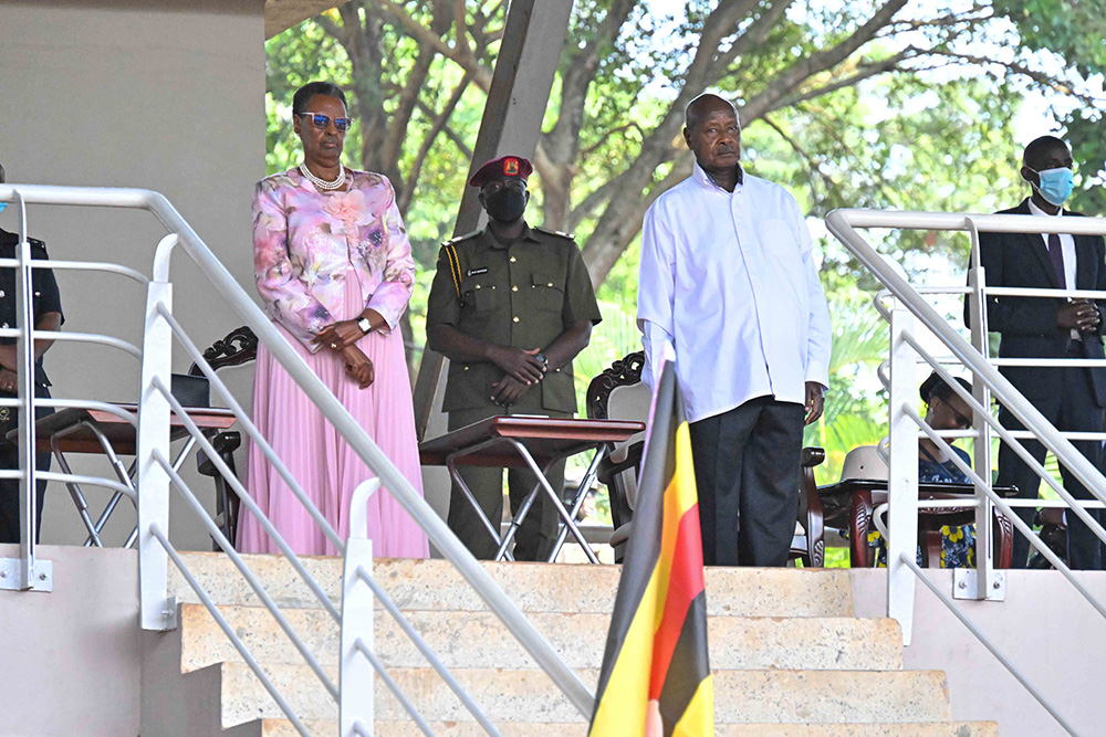
<path id="1" fill-rule="evenodd" d="M 325 77 L 349 91 L 359 120 L 347 160 L 396 185 L 421 266 L 405 326 L 416 349 L 508 4 L 349 0 L 268 43 L 270 170 L 299 161 L 292 91 Z M 749 170 L 789 187 L 821 219 L 839 207 L 1016 202 L 1025 141 L 1015 120 L 1032 94 L 1074 144 L 1073 201 L 1103 214 L 1104 35 L 1106 13 L 1089 0 L 576 0 L 534 156 L 530 218 L 575 232 L 602 285 L 606 320 L 578 373 L 636 347 L 640 221 L 690 172 L 680 129 L 693 96 L 733 99 Z M 914 274 L 935 264 L 957 273 L 967 255 L 962 238 L 943 233 L 880 234 L 878 244 Z M 872 385 L 886 334 L 868 307 L 875 284 L 835 243 L 822 246 L 834 386 L 808 440 L 830 449 L 832 465 L 884 432 L 878 393 L 859 387 Z"/>

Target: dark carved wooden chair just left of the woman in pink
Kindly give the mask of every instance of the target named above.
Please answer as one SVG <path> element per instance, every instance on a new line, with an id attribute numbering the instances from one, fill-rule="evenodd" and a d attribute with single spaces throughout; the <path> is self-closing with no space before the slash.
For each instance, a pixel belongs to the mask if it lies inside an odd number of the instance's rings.
<path id="1" fill-rule="evenodd" d="M 216 371 L 231 366 L 241 366 L 255 360 L 258 357 L 258 336 L 247 326 L 234 328 L 226 337 L 216 340 L 211 347 L 204 351 L 204 359 L 210 364 Z M 204 376 L 200 367 L 192 364 L 188 369 L 189 376 Z M 223 430 L 218 433 L 207 435 L 208 440 L 219 453 L 231 472 L 238 476 L 238 468 L 234 465 L 234 451 L 242 444 L 242 434 L 237 430 Z M 216 467 L 215 463 L 201 450 L 196 453 L 197 470 L 205 476 L 210 476 L 215 482 L 216 497 L 216 523 L 231 543 L 238 534 L 239 498 L 237 494 L 230 492 L 227 480 Z M 219 546 L 212 544 L 218 550 Z"/>

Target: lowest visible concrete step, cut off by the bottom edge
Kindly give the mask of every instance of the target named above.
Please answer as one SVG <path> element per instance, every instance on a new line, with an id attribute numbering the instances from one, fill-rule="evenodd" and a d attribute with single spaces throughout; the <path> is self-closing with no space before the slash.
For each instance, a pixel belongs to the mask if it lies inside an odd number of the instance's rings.
<path id="1" fill-rule="evenodd" d="M 309 719 L 304 725 L 312 735 L 330 737 L 338 730 L 337 720 Z M 499 725 L 497 725 L 498 727 Z M 487 737 L 472 722 L 435 722 L 436 735 Z M 503 737 L 585 737 L 587 725 L 504 724 Z M 720 724 L 718 737 L 999 737 L 994 722 L 931 722 L 928 724 Z M 286 719 L 264 719 L 259 737 L 300 737 Z M 413 722 L 377 722 L 376 737 L 422 737 Z"/>

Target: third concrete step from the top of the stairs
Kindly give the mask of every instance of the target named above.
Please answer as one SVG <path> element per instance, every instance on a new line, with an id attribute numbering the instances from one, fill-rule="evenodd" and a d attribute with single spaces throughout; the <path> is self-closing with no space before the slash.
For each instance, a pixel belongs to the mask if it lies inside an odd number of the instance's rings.
<path id="1" fill-rule="evenodd" d="M 222 724 L 281 718 L 276 705 L 243 663 L 223 663 Z M 335 719 L 337 705 L 305 665 L 264 666 L 301 718 Z M 333 671 L 333 668 L 331 668 Z M 594 687 L 598 671 L 577 671 Z M 424 718 L 471 722 L 471 715 L 429 668 L 390 668 Z M 492 722 L 572 724 L 580 715 L 541 671 L 455 668 L 453 675 Z M 333 674 L 332 674 L 332 677 Z M 937 671 L 716 671 L 719 724 L 909 724 L 950 722 L 948 686 Z M 376 714 L 404 720 L 406 714 L 376 684 Z"/>

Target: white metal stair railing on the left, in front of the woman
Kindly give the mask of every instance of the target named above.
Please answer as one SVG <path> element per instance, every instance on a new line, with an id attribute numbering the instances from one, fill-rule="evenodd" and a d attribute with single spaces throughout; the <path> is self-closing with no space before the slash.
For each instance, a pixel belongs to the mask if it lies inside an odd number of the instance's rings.
<path id="1" fill-rule="evenodd" d="M 169 494 L 170 489 L 173 489 L 181 495 L 187 506 L 199 516 L 201 523 L 206 526 L 212 539 L 227 552 L 233 565 L 239 569 L 247 582 L 253 589 L 258 599 L 273 615 L 281 629 L 284 630 L 294 646 L 300 651 L 304 661 L 320 678 L 323 686 L 335 698 L 335 701 L 340 703 L 340 710 L 341 705 L 344 703 L 342 696 L 344 688 L 340 688 L 330 680 L 324 668 L 310 652 L 310 649 L 304 644 L 303 640 L 298 636 L 288 620 L 283 617 L 276 602 L 268 592 L 264 591 L 262 585 L 257 577 L 252 575 L 242 557 L 233 550 L 231 541 L 226 539 L 222 531 L 219 529 L 219 526 L 206 513 L 202 504 L 188 487 L 187 483 L 181 478 L 180 474 L 177 473 L 177 468 L 174 464 L 168 460 L 170 418 L 173 414 L 176 414 L 179 422 L 185 427 L 190 435 L 189 442 L 195 442 L 196 445 L 207 453 L 208 459 L 212 462 L 219 473 L 223 475 L 229 487 L 238 495 L 244 507 L 257 516 L 261 526 L 274 540 L 276 547 L 281 549 L 284 557 L 292 565 L 296 573 L 304 580 L 312 593 L 319 599 L 323 609 L 330 612 L 338 623 L 343 624 L 343 631 L 346 630 L 345 621 L 348 620 L 348 618 L 344 618 L 343 612 L 340 612 L 330 601 L 322 587 L 312 578 L 288 543 L 281 538 L 273 525 L 265 518 L 264 514 L 262 514 L 261 509 L 249 496 L 246 488 L 238 481 L 233 472 L 222 461 L 211 442 L 202 434 L 197 424 L 188 415 L 186 409 L 173 396 L 169 389 L 173 348 L 175 343 L 178 343 L 185 349 L 186 354 L 196 362 L 201 372 L 208 378 L 211 387 L 215 389 L 215 392 L 226 402 L 227 407 L 233 411 L 242 430 L 250 435 L 254 443 L 258 444 L 258 448 L 272 463 L 276 473 L 288 483 L 292 493 L 304 505 L 309 515 L 315 520 L 316 524 L 319 524 L 326 538 L 334 545 L 335 549 L 337 549 L 340 554 L 348 556 L 349 551 L 347 550 L 345 540 L 341 539 L 314 504 L 312 504 L 302 487 L 296 483 L 295 478 L 292 477 L 292 474 L 288 471 L 283 463 L 281 463 L 272 448 L 253 425 L 249 414 L 244 412 L 241 406 L 234 400 L 230 390 L 226 387 L 222 380 L 216 376 L 210 365 L 204 358 L 202 352 L 196 347 L 195 343 L 189 338 L 188 334 L 174 316 L 174 285 L 169 278 L 169 267 L 171 256 L 177 250 L 177 246 L 179 246 L 180 250 L 182 250 L 199 267 L 200 272 L 209 280 L 221 296 L 229 303 L 239 318 L 244 320 L 246 324 L 253 329 L 259 340 L 265 344 L 270 352 L 278 361 L 281 362 L 284 369 L 290 376 L 292 376 L 293 380 L 296 381 L 306 396 L 322 410 L 323 414 L 333 424 L 335 430 L 337 430 L 337 432 L 346 440 L 349 446 L 358 454 L 373 473 L 376 474 L 379 483 L 383 484 L 383 486 L 396 498 L 400 506 L 427 534 L 435 547 L 437 547 L 444 557 L 459 570 L 480 598 L 486 602 L 489 609 L 503 622 L 508 631 L 510 631 L 520 644 L 522 644 L 522 646 L 534 657 L 539 667 L 541 667 L 551 677 L 553 683 L 567 696 L 568 701 L 581 712 L 582 715 L 588 716 L 591 714 L 594 697 L 587 687 L 581 682 L 578 676 L 564 663 L 563 660 L 561 660 L 545 638 L 533 628 L 533 625 L 507 597 L 502 589 L 492 580 L 480 562 L 477 561 L 463 544 L 461 544 L 452 531 L 449 530 L 448 526 L 440 517 L 438 517 L 437 513 L 434 512 L 430 505 L 426 503 L 421 495 L 414 489 L 403 474 L 380 452 L 373 440 L 349 415 L 346 409 L 341 404 L 341 402 L 338 402 L 333 393 L 331 393 L 325 385 L 322 383 L 311 368 L 307 367 L 303 359 L 300 358 L 295 350 L 288 345 L 280 333 L 273 327 L 269 318 L 257 307 L 252 298 L 241 288 L 227 269 L 218 261 L 218 259 L 216 259 L 204 241 L 179 215 L 179 213 L 177 213 L 164 196 L 148 190 L 136 189 L 49 186 L 18 186 L 17 191 L 15 186 L 6 187 L 0 185 L 0 201 L 6 199 L 11 200 L 17 197 L 21 198 L 21 207 L 22 202 L 25 201 L 29 203 L 100 206 L 147 210 L 153 213 L 169 231 L 169 233 L 158 243 L 154 255 L 153 278 L 149 280 L 147 285 L 143 350 L 137 351 L 137 349 L 135 349 L 135 351 L 133 351 L 140 355 L 143 359 L 142 385 L 138 402 L 139 412 L 136 422 L 138 435 L 137 488 L 140 489 L 140 492 L 137 494 L 136 502 L 138 508 L 137 547 L 139 560 L 139 613 L 140 623 L 144 629 L 166 630 L 176 625 L 176 600 L 169 597 L 168 588 L 168 562 L 171 560 L 180 570 L 185 580 L 196 591 L 208 612 L 241 654 L 247 665 L 253 671 L 253 673 L 261 681 L 262 685 L 272 696 L 273 701 L 292 722 L 296 730 L 301 735 L 309 734 L 302 720 L 298 718 L 294 709 L 267 677 L 264 671 L 259 666 L 257 661 L 250 655 L 246 644 L 234 633 L 233 628 L 218 611 L 218 608 L 212 603 L 210 597 L 204 590 L 202 585 L 197 580 L 196 576 L 188 570 L 186 561 L 169 541 L 168 508 Z M 22 240 L 25 246 L 25 238 Z M 24 248 L 24 251 L 28 252 L 27 260 L 29 261 L 29 249 Z M 62 262 L 38 262 L 34 265 L 51 267 L 60 263 Z M 0 261 L 0 266 L 8 264 Z M 29 280 L 29 271 L 27 278 Z M 28 333 L 28 328 L 24 327 L 23 333 Z M 0 331 L 0 336 L 3 335 L 4 334 Z M 38 336 L 35 335 L 34 337 Z M 44 337 L 55 336 L 54 334 L 49 334 L 49 336 Z M 96 336 L 96 338 L 100 338 L 100 341 L 102 343 L 109 340 L 104 336 Z M 27 339 L 28 336 L 24 336 L 24 343 Z M 24 373 L 28 372 L 24 371 Z M 30 375 L 33 376 L 33 372 Z M 33 391 L 31 393 L 33 394 Z M 23 400 L 20 399 L 19 401 Z M 48 404 L 48 401 L 40 400 L 40 404 L 45 406 Z M 60 402 L 54 400 L 52 404 L 60 404 Z M 86 404 L 96 404 L 97 408 L 103 409 L 100 407 L 101 403 L 86 402 Z M 33 397 L 30 401 L 28 401 L 27 406 L 33 408 Z M 70 402 L 69 406 L 74 406 L 74 402 Z M 33 417 L 33 413 L 31 417 Z M 135 421 L 133 417 L 129 419 L 132 422 Z M 25 432 L 24 425 L 28 425 L 29 431 L 33 433 L 33 422 L 21 421 L 21 442 L 23 433 Z M 25 444 L 25 448 L 34 448 L 33 435 L 30 439 L 30 442 Z M 21 470 L 19 473 L 23 474 L 21 478 L 30 482 L 28 487 L 33 489 L 33 456 L 31 456 L 31 465 L 29 470 Z M 80 481 L 87 483 L 90 481 L 84 476 L 72 476 L 70 474 L 39 474 L 39 476 L 55 478 L 59 481 L 72 481 L 74 483 Z M 104 485 L 111 486 L 111 484 Z M 362 493 L 364 494 L 366 492 Z M 29 496 L 33 499 L 33 494 L 28 495 L 24 493 L 23 496 Z M 33 508 L 31 509 L 30 515 L 23 515 L 23 519 L 33 519 Z M 27 559 L 28 557 L 25 556 L 21 557 L 21 560 L 25 561 Z M 371 557 L 365 560 L 364 555 L 362 552 L 357 552 L 354 555 L 354 559 L 356 560 L 356 565 L 353 566 L 352 570 L 356 576 L 356 581 L 367 587 L 369 592 L 380 600 L 385 610 L 397 619 L 400 628 L 413 639 L 416 647 L 429 660 L 431 666 L 446 680 L 449 687 L 458 695 L 466 708 L 473 714 L 473 717 L 484 728 L 484 730 L 488 731 L 488 734 L 498 735 L 499 733 L 495 730 L 494 726 L 492 726 L 487 717 L 483 716 L 468 694 L 465 693 L 456 680 L 452 678 L 445 666 L 442 666 L 430 647 L 421 640 L 421 638 L 418 636 L 418 633 L 414 630 L 410 623 L 403 618 L 395 603 L 387 598 L 384 590 L 372 578 Z M 31 545 L 30 560 L 33 566 L 33 541 Z M 25 562 L 22 565 L 27 566 Z M 352 609 L 363 613 L 364 600 L 361 597 L 359 589 L 364 587 L 359 587 L 358 585 L 358 587 L 355 588 L 358 590 L 356 599 L 358 603 Z M 398 692 L 398 688 L 395 687 L 394 682 L 387 676 L 383 667 L 379 666 L 379 662 L 375 659 L 375 655 L 372 652 L 372 638 L 366 638 L 364 634 L 363 628 L 365 627 L 367 627 L 371 631 L 372 622 L 369 621 L 368 624 L 351 625 L 351 632 L 361 632 L 361 634 L 353 641 L 356 646 L 356 651 L 361 653 L 363 659 L 369 662 L 373 668 L 382 676 L 385 684 L 388 685 L 389 688 L 393 688 L 400 703 L 404 704 L 405 708 L 408 708 L 408 713 L 411 714 L 413 718 L 420 726 L 420 728 L 422 728 L 426 734 L 432 734 L 429 731 L 429 727 L 426 723 L 421 720 L 421 718 L 418 717 L 411 708 L 409 708 L 409 703 L 407 703 L 401 693 Z M 353 667 L 356 673 L 356 667 Z M 344 680 L 342 683 L 344 685 Z M 358 683 L 358 680 L 352 676 L 352 683 L 356 684 Z M 363 691 L 363 688 L 357 689 L 356 698 L 363 698 L 365 696 L 364 693 L 362 693 Z M 349 712 L 348 709 L 346 713 L 355 714 L 355 712 Z M 364 730 L 365 719 L 365 713 L 361 712 L 356 713 L 356 718 L 352 718 L 351 722 L 361 722 L 361 729 Z M 358 731 L 351 724 L 349 730 L 343 731 L 343 735 L 347 734 L 353 735 L 358 734 Z"/>

